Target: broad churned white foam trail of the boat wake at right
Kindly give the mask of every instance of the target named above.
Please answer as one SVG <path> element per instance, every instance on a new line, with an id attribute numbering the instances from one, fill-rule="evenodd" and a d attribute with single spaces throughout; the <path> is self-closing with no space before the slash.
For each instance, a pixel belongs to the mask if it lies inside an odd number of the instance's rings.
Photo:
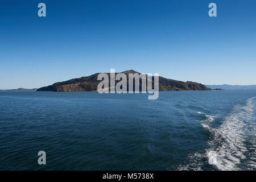
<path id="1" fill-rule="evenodd" d="M 218 170 L 238 170 L 237 165 L 245 159 L 246 128 L 254 113 L 254 99 L 249 98 L 245 106 L 236 106 L 218 129 L 213 129 L 211 146 L 207 150 L 208 162 Z M 254 124 L 253 124 L 254 125 Z M 250 164 L 255 166 L 255 162 Z"/>

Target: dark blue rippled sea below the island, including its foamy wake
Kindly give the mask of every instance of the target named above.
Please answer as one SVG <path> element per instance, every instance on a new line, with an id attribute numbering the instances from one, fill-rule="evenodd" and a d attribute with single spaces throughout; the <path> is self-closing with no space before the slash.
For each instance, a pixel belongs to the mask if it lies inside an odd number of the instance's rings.
<path id="1" fill-rule="evenodd" d="M 158 100 L 0 92 L 0 170 L 255 170 L 255 102 L 255 90 L 159 92 Z"/>

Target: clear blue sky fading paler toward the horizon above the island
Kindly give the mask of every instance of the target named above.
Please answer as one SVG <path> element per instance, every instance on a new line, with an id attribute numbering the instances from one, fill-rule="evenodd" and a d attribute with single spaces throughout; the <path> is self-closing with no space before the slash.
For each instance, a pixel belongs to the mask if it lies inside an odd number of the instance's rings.
<path id="1" fill-rule="evenodd" d="M 217 17 L 208 16 L 210 2 Z M 39 88 L 110 68 L 256 84 L 255 7 L 254 0 L 1 0 L 0 89 Z"/>

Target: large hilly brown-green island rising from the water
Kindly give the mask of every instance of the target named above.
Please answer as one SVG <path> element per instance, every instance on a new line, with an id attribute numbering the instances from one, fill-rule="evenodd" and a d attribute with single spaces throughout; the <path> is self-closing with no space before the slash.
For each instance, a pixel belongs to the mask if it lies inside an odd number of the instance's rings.
<path id="1" fill-rule="evenodd" d="M 122 73 L 125 73 L 125 75 L 127 76 L 127 89 L 129 89 L 128 74 L 138 73 L 138 72 L 129 70 Z M 81 77 L 81 78 L 74 78 L 68 81 L 56 82 L 53 85 L 44 86 L 42 88 L 37 89 L 36 91 L 53 91 L 53 92 L 97 91 L 97 86 L 101 82 L 97 80 L 98 74 L 99 73 L 96 73 L 90 76 Z M 110 78 L 110 73 L 106 73 L 106 74 L 108 74 Z M 118 81 L 115 81 L 115 84 L 117 84 L 117 82 Z M 154 81 L 152 81 L 152 85 L 154 86 Z M 141 90 L 141 81 L 140 81 L 140 90 Z M 191 82 L 191 81 L 183 82 L 183 81 L 171 80 L 171 79 L 159 76 L 159 91 L 182 91 L 182 90 L 211 90 L 211 89 L 197 82 Z"/>

